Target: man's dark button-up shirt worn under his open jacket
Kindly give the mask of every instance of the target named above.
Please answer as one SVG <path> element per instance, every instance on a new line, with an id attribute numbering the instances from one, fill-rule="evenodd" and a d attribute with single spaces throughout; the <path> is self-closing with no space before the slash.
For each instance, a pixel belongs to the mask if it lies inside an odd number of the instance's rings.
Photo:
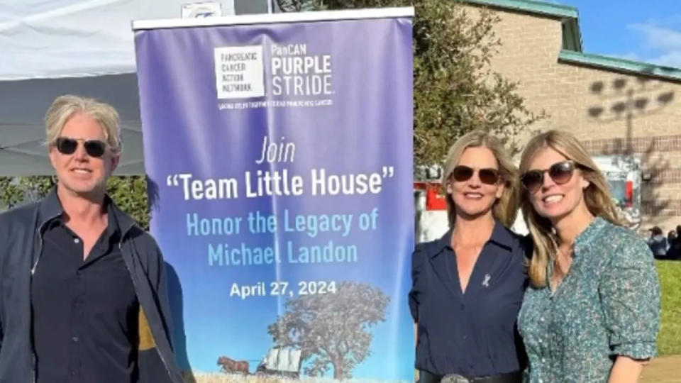
<path id="1" fill-rule="evenodd" d="M 139 304 L 115 218 L 85 260 L 60 218 L 43 238 L 31 283 L 37 382 L 136 382 Z"/>

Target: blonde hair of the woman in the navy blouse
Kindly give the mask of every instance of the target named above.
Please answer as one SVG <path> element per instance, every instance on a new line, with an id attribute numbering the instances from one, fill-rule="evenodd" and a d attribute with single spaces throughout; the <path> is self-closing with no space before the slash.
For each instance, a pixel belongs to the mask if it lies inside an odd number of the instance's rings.
<path id="1" fill-rule="evenodd" d="M 487 148 L 492 151 L 494 158 L 497 159 L 499 165 L 499 176 L 504 181 L 505 188 L 501 198 L 497 199 L 492 206 L 492 215 L 497 221 L 501 222 L 507 228 L 513 225 L 518 212 L 518 170 L 508 152 L 502 145 L 499 138 L 489 134 L 486 131 L 472 131 L 459 138 L 454 145 L 449 148 L 447 160 L 444 165 L 444 172 L 441 179 L 441 187 L 445 194 L 445 201 L 447 203 L 447 216 L 449 218 L 450 228 L 454 227 L 456 221 L 456 211 L 452 196 L 447 193 L 447 182 L 450 179 L 454 168 L 459 164 L 461 155 L 466 148 Z"/>

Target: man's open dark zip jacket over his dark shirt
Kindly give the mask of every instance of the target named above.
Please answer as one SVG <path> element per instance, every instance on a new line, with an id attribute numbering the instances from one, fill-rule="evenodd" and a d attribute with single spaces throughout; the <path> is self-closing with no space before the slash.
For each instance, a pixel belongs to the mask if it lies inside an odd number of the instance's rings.
<path id="1" fill-rule="evenodd" d="M 113 202 L 108 213 L 121 227 L 121 255 L 140 303 L 139 382 L 181 383 L 170 341 L 172 324 L 160 250 Z M 0 214 L 0 383 L 35 380 L 31 275 L 40 262 L 46 223 L 61 214 L 56 190 L 38 203 Z"/>

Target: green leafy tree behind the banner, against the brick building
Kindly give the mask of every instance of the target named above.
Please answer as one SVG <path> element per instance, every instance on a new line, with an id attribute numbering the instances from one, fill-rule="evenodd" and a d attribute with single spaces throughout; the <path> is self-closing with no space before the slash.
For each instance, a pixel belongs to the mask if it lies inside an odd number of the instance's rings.
<path id="1" fill-rule="evenodd" d="M 455 0 L 310 0 L 316 9 L 411 6 L 414 17 L 414 163 L 440 164 L 461 135 L 482 128 L 519 151 L 519 133 L 546 118 L 527 109 L 517 84 L 494 72 L 500 18 Z M 306 2 L 299 0 L 299 2 Z"/>

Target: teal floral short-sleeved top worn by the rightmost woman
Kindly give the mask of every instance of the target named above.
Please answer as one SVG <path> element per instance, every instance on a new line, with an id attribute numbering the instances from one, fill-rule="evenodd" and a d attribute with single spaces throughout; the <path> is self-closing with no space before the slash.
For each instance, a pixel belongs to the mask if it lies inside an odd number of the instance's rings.
<path id="1" fill-rule="evenodd" d="M 617 355 L 654 357 L 660 284 L 648 245 L 595 218 L 577 236 L 558 289 L 528 287 L 518 326 L 529 359 L 525 382 L 607 382 Z"/>

